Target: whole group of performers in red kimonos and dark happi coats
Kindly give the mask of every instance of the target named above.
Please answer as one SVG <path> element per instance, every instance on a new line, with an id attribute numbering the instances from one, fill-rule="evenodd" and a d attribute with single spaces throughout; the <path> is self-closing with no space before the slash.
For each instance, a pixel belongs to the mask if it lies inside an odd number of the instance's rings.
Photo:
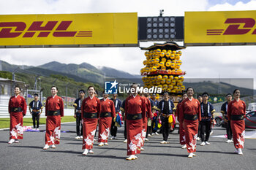
<path id="1" fill-rule="evenodd" d="M 148 135 L 151 133 L 157 134 L 157 123 L 161 121 L 163 141 L 161 144 L 167 144 L 167 139 L 170 134 L 170 129 L 174 128 L 176 117 L 179 122 L 180 144 L 182 148 L 187 148 L 188 157 L 195 156 L 197 136 L 200 136 L 201 146 L 209 145 L 208 142 L 211 132 L 211 120 L 213 119 L 214 107 L 208 102 L 208 93 L 203 93 L 203 101 L 200 103 L 196 98 L 193 98 L 194 89 L 189 87 L 186 93 L 182 95 L 181 101 L 177 106 L 173 104 L 168 93 L 163 94 L 162 101 L 157 101 L 155 95 L 152 99 L 147 93 L 136 93 L 137 85 L 131 86 L 129 96 L 121 103 L 114 95 L 113 98 L 108 98 L 108 94 L 102 93 L 103 98 L 99 100 L 94 86 L 89 86 L 89 96 L 85 98 L 85 91 L 79 91 L 79 98 L 75 101 L 75 115 L 77 120 L 77 136 L 75 139 L 83 139 L 83 155 L 94 153 L 93 144 L 94 136 L 99 125 L 98 142 L 99 146 L 108 145 L 108 136 L 111 134 L 112 139 L 116 138 L 116 123 L 119 112 L 124 113 L 125 142 L 127 142 L 127 161 L 135 160 L 140 151 L 144 150 L 143 145 Z M 132 90 L 134 89 L 134 90 Z M 61 117 L 64 116 L 64 104 L 61 97 L 57 96 L 58 88 L 51 88 L 52 96 L 48 97 L 45 102 L 46 132 L 45 132 L 45 147 L 56 148 L 55 144 L 59 144 L 61 136 Z M 20 96 L 20 88 L 15 87 L 15 96 L 10 98 L 9 113 L 10 113 L 10 141 L 18 142 L 18 139 L 23 139 L 23 116 L 26 115 L 26 101 Z M 42 103 L 35 100 L 31 101 L 30 112 L 33 115 L 33 120 L 37 119 L 37 115 L 42 113 Z M 227 102 L 222 105 L 222 113 L 227 121 L 227 142 L 232 142 L 231 135 L 233 134 L 233 142 L 236 148 L 235 152 L 242 155 L 244 148 L 244 115 L 246 105 L 240 99 L 240 91 L 238 89 L 232 95 L 227 94 Z M 31 111 L 32 109 L 32 111 Z M 40 112 L 41 109 L 41 112 Z M 176 117 L 175 117 L 176 115 Z M 37 120 L 38 123 L 38 120 Z M 200 134 L 198 127 L 200 125 Z M 81 126 L 81 128 L 80 128 Z M 35 124 L 34 124 L 35 128 Z M 38 125 L 37 125 L 38 128 Z"/>

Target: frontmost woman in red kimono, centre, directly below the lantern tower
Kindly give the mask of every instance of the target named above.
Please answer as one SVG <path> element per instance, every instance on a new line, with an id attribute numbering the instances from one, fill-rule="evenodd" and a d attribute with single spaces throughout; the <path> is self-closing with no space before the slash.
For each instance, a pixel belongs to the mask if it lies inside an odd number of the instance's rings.
<path id="1" fill-rule="evenodd" d="M 127 121 L 127 161 L 137 159 L 135 154 L 140 153 L 142 139 L 142 128 L 145 123 L 145 99 L 138 96 L 137 85 L 131 86 L 132 95 L 125 100 L 125 117 Z"/>

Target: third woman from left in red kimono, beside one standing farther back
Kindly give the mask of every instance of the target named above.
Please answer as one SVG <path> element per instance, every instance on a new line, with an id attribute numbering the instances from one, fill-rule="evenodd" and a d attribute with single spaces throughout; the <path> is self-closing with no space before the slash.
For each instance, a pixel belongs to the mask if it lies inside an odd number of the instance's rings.
<path id="1" fill-rule="evenodd" d="M 94 135 L 101 110 L 99 98 L 94 96 L 94 86 L 89 86 L 87 90 L 89 96 L 83 99 L 81 109 L 83 119 L 83 155 L 87 155 L 88 153 L 94 153 L 94 151 L 92 151 L 91 149 L 94 144 Z"/>

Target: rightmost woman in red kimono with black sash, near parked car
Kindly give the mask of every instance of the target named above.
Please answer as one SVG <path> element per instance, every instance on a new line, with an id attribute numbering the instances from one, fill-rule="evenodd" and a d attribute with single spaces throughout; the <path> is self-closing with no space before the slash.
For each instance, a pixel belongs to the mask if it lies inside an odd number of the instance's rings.
<path id="1" fill-rule="evenodd" d="M 243 155 L 242 148 L 244 148 L 245 124 L 244 116 L 246 105 L 240 99 L 240 90 L 234 90 L 234 100 L 227 105 L 227 118 L 230 120 L 230 125 L 233 133 L 233 142 L 236 148 L 235 152 Z"/>

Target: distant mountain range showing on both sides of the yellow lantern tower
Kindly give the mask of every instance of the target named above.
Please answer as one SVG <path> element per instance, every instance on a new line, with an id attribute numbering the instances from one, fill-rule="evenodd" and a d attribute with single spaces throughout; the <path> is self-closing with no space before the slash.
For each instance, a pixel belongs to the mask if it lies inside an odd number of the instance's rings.
<path id="1" fill-rule="evenodd" d="M 5 61 L 2 61 L 2 70 L 13 72 L 17 68 L 22 68 L 22 66 L 12 65 Z M 20 69 L 18 72 L 24 72 L 29 74 L 38 74 L 46 77 L 52 77 L 52 75 L 61 75 L 69 79 L 74 80 L 75 82 L 93 82 L 103 85 L 105 78 L 123 78 L 123 79 L 141 79 L 140 75 L 132 75 L 127 72 L 122 72 L 120 70 L 112 69 L 106 66 L 95 67 L 89 63 L 59 63 L 56 61 L 45 63 L 41 66 L 32 67 L 32 66 L 23 66 L 24 69 Z M 214 82 L 214 81 L 202 81 L 198 82 L 189 82 L 185 79 L 185 87 L 191 86 L 195 89 L 196 93 L 208 92 L 210 94 L 227 94 L 233 93 L 233 90 L 238 88 L 241 90 L 241 95 L 252 96 L 255 90 L 248 88 L 240 88 L 235 85 L 230 85 L 225 82 Z"/>

